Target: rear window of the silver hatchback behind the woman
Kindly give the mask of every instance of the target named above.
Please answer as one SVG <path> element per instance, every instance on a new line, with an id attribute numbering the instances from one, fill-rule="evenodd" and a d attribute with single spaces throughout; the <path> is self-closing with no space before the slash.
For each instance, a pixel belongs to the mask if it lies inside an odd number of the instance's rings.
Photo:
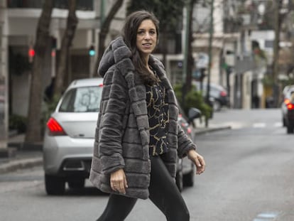
<path id="1" fill-rule="evenodd" d="M 59 112 L 98 112 L 102 87 L 77 87 L 67 91 Z"/>

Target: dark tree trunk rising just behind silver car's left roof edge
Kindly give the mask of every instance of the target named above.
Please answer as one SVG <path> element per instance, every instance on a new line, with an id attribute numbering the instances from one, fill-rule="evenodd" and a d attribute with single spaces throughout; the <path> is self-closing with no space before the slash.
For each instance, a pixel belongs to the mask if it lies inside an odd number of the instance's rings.
<path id="1" fill-rule="evenodd" d="M 69 12 L 67 16 L 67 26 L 64 35 L 62 36 L 60 58 L 58 71 L 55 77 L 54 85 L 54 97 L 59 99 L 62 95 L 63 90 L 65 90 L 65 76 L 67 73 L 67 63 L 70 51 L 70 46 L 72 45 L 72 39 L 75 37 L 75 30 L 77 29 L 77 16 L 75 14 L 77 8 L 77 1 L 69 1 Z M 54 99 L 53 99 L 54 100 Z"/>

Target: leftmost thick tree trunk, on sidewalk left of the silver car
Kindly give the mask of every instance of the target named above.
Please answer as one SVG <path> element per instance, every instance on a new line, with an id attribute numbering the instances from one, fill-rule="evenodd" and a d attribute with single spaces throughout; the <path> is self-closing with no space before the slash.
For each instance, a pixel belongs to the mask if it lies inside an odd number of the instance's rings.
<path id="1" fill-rule="evenodd" d="M 45 0 L 42 14 L 38 21 L 36 31 L 36 43 L 34 46 L 36 55 L 33 60 L 31 75 L 31 88 L 28 106 L 28 124 L 26 130 L 26 142 L 41 141 L 41 104 L 43 99 L 42 70 L 45 59 L 45 49 L 49 40 L 49 26 L 53 10 L 53 0 Z"/>

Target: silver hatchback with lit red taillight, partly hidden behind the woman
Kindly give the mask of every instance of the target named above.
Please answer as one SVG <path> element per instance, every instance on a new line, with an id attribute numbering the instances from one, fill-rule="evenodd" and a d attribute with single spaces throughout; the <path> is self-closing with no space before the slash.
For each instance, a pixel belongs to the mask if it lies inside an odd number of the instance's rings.
<path id="1" fill-rule="evenodd" d="M 102 83 L 102 78 L 73 81 L 48 120 L 43 142 L 45 190 L 48 195 L 65 193 L 65 183 L 69 188 L 83 188 L 85 179 L 89 178 Z M 197 109 L 191 110 L 187 121 L 183 115 L 179 117 L 187 134 L 192 133 L 188 121 L 195 117 L 199 117 Z M 191 164 L 186 165 L 185 161 L 179 160 L 177 174 L 179 188 L 192 185 L 194 168 Z"/>

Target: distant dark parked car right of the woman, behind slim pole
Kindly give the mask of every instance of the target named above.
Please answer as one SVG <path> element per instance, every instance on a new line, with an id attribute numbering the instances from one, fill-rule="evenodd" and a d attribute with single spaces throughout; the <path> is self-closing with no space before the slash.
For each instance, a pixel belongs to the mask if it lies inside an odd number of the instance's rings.
<path id="1" fill-rule="evenodd" d="M 199 81 L 193 81 L 193 85 L 197 90 L 202 91 L 202 95 L 206 97 L 207 82 L 202 82 L 202 88 Z M 209 84 L 209 97 L 213 100 L 212 107 L 214 111 L 219 111 L 222 107 L 229 107 L 229 96 L 227 90 L 221 85 L 214 83 Z"/>

